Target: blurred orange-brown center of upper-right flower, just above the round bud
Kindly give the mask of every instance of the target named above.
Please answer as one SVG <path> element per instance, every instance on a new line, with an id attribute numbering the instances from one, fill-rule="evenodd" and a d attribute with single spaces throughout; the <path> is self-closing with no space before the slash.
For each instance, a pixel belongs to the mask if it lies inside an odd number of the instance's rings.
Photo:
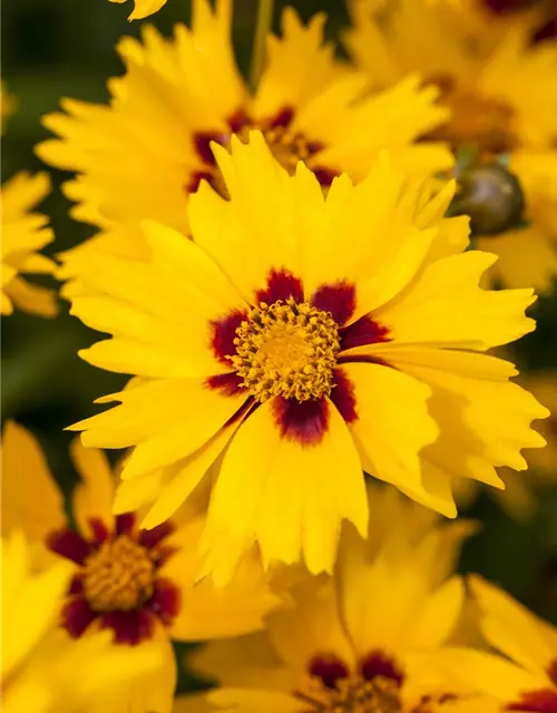
<path id="1" fill-rule="evenodd" d="M 449 121 L 433 133 L 436 138 L 449 141 L 455 152 L 472 146 L 485 159 L 517 147 L 515 111 L 508 102 L 462 89 L 449 76 L 432 81 L 441 90 L 441 102 L 451 111 Z"/>

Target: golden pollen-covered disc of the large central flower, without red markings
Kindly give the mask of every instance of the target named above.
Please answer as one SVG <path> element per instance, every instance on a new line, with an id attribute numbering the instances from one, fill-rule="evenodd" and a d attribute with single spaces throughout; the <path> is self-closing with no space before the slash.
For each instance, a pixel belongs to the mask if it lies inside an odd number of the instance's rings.
<path id="1" fill-rule="evenodd" d="M 236 330 L 234 344 L 232 364 L 257 401 L 306 401 L 331 393 L 340 341 L 330 312 L 292 297 L 262 302 Z"/>

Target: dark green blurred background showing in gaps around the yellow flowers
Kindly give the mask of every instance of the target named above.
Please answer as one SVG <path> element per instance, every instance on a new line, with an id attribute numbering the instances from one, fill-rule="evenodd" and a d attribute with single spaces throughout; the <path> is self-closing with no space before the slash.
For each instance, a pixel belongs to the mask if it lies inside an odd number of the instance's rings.
<path id="1" fill-rule="evenodd" d="M 276 3 L 275 27 L 281 8 Z M 348 22 L 341 0 L 296 0 L 307 18 L 325 11 L 333 37 Z M 241 67 L 248 64 L 255 0 L 238 0 L 235 43 Z M 130 2 L 108 0 L 4 0 L 0 3 L 0 67 L 10 94 L 18 100 L 0 141 L 0 182 L 20 169 L 43 168 L 33 146 L 47 136 L 41 115 L 57 108 L 65 96 L 105 101 L 106 80 L 123 71 L 114 46 L 123 35 L 137 36 L 140 23 L 129 23 Z M 168 0 L 150 18 L 165 35 L 177 21 L 189 19 L 189 0 Z M 90 226 L 72 222 L 69 203 L 60 193 L 67 178 L 51 172 L 55 188 L 41 206 L 51 216 L 56 241 L 50 253 L 63 251 L 92 234 Z M 557 368 L 557 307 L 554 299 L 538 303 L 534 315 L 538 331 L 517 348 L 522 368 Z M 0 420 L 13 418 L 29 427 L 45 447 L 52 470 L 68 490 L 75 472 L 67 455 L 71 434 L 62 429 L 90 416 L 92 401 L 118 390 L 124 379 L 89 367 L 77 352 L 97 335 L 67 314 L 62 303 L 55 320 L 21 314 L 0 320 Z M 540 492 L 535 517 L 516 522 L 487 496 L 470 515 L 483 522 L 482 531 L 467 546 L 463 569 L 480 572 L 545 616 L 557 621 L 557 492 Z"/>

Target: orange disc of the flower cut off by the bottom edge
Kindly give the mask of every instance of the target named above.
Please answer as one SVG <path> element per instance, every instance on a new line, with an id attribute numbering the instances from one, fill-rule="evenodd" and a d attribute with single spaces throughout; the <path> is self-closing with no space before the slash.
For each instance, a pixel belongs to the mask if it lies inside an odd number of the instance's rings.
<path id="1" fill-rule="evenodd" d="M 402 713 L 399 685 L 387 676 L 372 681 L 342 677 L 334 687 L 325 686 L 319 676 L 310 676 L 294 697 L 304 703 L 304 713 Z"/>

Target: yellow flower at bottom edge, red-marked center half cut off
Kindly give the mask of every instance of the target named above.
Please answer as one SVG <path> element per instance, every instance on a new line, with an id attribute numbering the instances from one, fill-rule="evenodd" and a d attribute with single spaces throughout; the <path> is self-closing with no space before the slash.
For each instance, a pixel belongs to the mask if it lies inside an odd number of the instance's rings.
<path id="1" fill-rule="evenodd" d="M 462 612 L 451 565 L 470 525 L 416 530 L 420 506 L 393 495 L 373 491 L 379 527 L 372 518 L 367 541 L 346 528 L 334 576 L 301 573 L 293 606 L 271 614 L 265 632 L 194 653 L 194 670 L 224 686 L 209 703 L 242 713 L 426 713 L 443 701 L 457 710 L 467 691 L 437 670 Z"/>

